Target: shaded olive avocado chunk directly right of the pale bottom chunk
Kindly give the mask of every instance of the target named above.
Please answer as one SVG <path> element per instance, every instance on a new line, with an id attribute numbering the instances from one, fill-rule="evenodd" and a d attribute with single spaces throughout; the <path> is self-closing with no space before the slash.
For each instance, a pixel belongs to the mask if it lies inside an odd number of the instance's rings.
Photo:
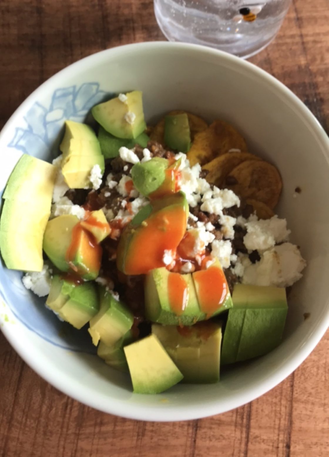
<path id="1" fill-rule="evenodd" d="M 152 333 L 183 374 L 183 383 L 219 381 L 221 323 L 202 322 L 183 328 L 153 324 Z"/>

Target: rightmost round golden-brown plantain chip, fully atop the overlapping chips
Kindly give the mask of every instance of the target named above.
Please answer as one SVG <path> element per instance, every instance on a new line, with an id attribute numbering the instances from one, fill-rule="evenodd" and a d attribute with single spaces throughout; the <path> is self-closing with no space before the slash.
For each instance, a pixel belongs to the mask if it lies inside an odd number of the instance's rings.
<path id="1" fill-rule="evenodd" d="M 236 180 L 236 184 L 228 185 L 240 197 L 258 200 L 273 209 L 280 197 L 282 189 L 281 176 L 274 165 L 265 160 L 246 160 L 229 173 L 226 183 Z"/>

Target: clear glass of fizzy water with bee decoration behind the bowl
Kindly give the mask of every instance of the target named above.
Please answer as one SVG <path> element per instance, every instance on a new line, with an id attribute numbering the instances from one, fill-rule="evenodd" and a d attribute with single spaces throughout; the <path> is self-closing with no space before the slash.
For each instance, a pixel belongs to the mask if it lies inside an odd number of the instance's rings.
<path id="1" fill-rule="evenodd" d="M 247 58 L 279 31 L 291 0 L 154 0 L 159 27 L 170 41 L 185 41 Z"/>

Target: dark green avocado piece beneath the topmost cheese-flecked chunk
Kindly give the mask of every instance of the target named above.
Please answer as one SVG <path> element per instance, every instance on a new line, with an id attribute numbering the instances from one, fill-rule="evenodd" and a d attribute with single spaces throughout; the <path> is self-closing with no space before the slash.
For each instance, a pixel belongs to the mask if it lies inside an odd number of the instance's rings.
<path id="1" fill-rule="evenodd" d="M 123 146 L 128 149 L 133 149 L 136 144 L 139 144 L 142 148 L 146 148 L 149 140 L 150 138 L 145 132 L 142 132 L 137 138 L 132 140 L 114 137 L 111 133 L 106 132 L 102 126 L 100 126 L 98 131 L 98 141 L 105 159 L 117 157 L 119 155 L 119 149 Z"/>

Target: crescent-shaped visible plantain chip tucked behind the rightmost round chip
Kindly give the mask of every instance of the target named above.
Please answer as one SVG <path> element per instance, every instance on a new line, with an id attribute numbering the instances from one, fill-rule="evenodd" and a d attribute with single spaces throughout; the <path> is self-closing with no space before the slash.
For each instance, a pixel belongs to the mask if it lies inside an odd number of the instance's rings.
<path id="1" fill-rule="evenodd" d="M 220 155 L 203 165 L 202 170 L 208 170 L 209 173 L 206 176 L 206 180 L 211 184 L 215 184 L 217 187 L 223 187 L 225 185 L 225 178 L 236 166 L 244 162 L 245 160 L 261 160 L 254 154 L 249 152 L 228 152 Z"/>

